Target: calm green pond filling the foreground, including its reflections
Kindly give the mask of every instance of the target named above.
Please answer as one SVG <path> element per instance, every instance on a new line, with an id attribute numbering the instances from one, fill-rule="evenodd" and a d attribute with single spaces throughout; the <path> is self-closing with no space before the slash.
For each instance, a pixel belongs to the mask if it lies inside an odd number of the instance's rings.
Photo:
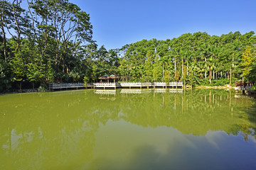
<path id="1" fill-rule="evenodd" d="M 255 100 L 225 90 L 0 96 L 0 169 L 256 169 Z"/>

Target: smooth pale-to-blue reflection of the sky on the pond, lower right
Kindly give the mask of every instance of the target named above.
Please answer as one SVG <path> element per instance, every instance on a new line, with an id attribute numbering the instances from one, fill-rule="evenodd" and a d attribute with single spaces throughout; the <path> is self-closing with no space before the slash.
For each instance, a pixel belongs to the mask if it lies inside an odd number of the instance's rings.
<path id="1" fill-rule="evenodd" d="M 87 169 L 256 168 L 255 143 L 223 131 L 183 135 L 174 128 L 109 121 L 95 137 L 94 158 Z"/>

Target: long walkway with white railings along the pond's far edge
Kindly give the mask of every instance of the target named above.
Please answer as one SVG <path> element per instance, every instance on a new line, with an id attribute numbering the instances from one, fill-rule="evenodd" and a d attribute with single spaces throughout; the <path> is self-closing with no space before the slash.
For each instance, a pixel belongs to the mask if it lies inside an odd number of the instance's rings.
<path id="1" fill-rule="evenodd" d="M 162 87 L 162 88 L 183 88 L 183 82 L 169 82 L 169 84 L 166 84 L 164 82 L 127 82 L 127 83 L 94 83 L 94 84 L 85 84 L 82 83 L 70 83 L 70 84 L 49 84 L 50 90 L 61 90 L 61 89 L 80 89 L 80 88 L 96 88 L 96 89 L 110 89 L 110 88 L 156 88 L 156 87 Z"/>

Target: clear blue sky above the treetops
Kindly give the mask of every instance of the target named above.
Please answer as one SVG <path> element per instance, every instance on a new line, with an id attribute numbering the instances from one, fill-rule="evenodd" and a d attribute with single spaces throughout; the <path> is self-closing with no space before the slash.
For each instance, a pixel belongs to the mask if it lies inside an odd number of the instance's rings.
<path id="1" fill-rule="evenodd" d="M 256 0 L 70 0 L 90 13 L 93 40 L 107 50 L 183 33 L 256 32 Z"/>

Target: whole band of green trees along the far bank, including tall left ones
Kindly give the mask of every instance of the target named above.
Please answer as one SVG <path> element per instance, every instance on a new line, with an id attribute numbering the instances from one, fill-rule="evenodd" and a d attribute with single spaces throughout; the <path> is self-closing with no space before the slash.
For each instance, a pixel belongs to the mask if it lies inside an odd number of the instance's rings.
<path id="1" fill-rule="evenodd" d="M 186 33 L 98 47 L 90 14 L 68 0 L 1 0 L 0 91 L 51 83 L 183 81 L 192 86 L 256 81 L 256 35 Z"/>

